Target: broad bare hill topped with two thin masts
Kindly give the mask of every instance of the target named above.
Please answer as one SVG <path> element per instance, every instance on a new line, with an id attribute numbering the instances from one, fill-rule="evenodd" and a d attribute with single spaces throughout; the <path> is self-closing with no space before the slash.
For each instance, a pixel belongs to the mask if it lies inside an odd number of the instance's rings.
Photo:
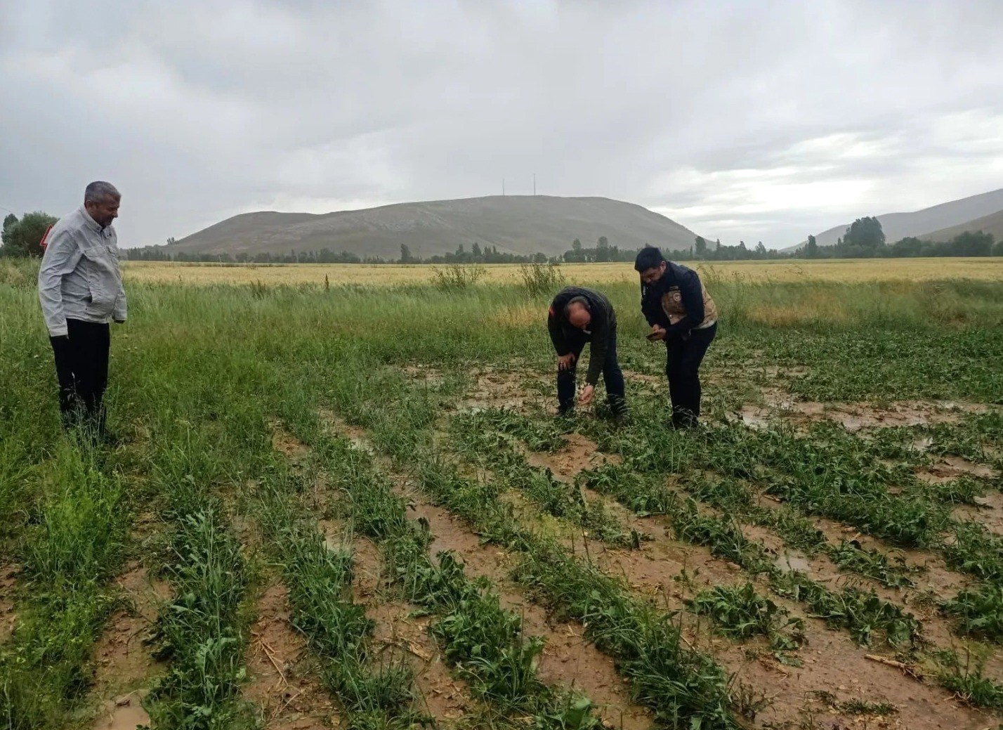
<path id="1" fill-rule="evenodd" d="M 688 249 L 696 238 L 689 229 L 641 206 L 606 198 L 493 196 L 457 201 L 403 203 L 364 211 L 313 215 L 248 213 L 234 216 L 170 247 L 177 255 L 241 253 L 288 254 L 330 249 L 360 257 L 397 259 L 400 245 L 414 256 L 496 246 L 498 252 L 557 256 L 579 239 L 594 247 L 601 236 L 611 246 L 637 249 L 645 244 Z"/>

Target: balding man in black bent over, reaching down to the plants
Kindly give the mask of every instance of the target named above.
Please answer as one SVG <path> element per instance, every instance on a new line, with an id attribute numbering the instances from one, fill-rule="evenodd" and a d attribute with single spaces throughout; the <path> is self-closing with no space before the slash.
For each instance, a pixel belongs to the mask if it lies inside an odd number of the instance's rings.
<path id="1" fill-rule="evenodd" d="M 589 372 L 579 403 L 592 402 L 602 373 L 610 409 L 615 417 L 624 417 L 624 375 L 617 363 L 617 318 L 610 300 L 591 289 L 562 289 L 551 304 L 547 329 L 558 353 L 558 414 L 568 415 L 575 409 L 576 366 L 585 343 L 591 342 Z"/>

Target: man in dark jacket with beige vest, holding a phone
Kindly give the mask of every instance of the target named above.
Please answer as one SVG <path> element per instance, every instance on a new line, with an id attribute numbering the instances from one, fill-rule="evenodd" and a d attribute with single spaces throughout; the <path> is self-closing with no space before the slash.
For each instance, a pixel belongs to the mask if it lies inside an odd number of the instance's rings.
<path id="1" fill-rule="evenodd" d="M 700 416 L 700 363 L 717 334 L 717 307 L 695 271 L 665 261 L 658 249 L 642 249 L 634 269 L 648 339 L 665 342 L 672 425 L 690 428 Z"/>

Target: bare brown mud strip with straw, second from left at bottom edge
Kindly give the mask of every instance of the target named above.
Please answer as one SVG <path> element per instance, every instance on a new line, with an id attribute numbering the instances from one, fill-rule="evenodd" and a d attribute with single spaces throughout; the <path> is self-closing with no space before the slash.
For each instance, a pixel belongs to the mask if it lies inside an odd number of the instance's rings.
<path id="1" fill-rule="evenodd" d="M 251 627 L 244 696 L 257 704 L 266 728 L 327 728 L 330 698 L 312 679 L 316 672 L 305 661 L 306 641 L 289 623 L 289 594 L 282 584 L 268 587 L 258 603 L 258 620 Z"/>

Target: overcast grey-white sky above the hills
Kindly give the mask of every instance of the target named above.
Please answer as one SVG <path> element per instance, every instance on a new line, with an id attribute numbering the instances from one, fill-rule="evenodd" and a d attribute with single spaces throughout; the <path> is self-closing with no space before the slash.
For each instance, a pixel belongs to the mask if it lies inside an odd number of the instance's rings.
<path id="1" fill-rule="evenodd" d="M 1003 187 L 999 0 L 0 0 L 0 207 L 123 246 L 538 191 L 782 248 Z"/>

